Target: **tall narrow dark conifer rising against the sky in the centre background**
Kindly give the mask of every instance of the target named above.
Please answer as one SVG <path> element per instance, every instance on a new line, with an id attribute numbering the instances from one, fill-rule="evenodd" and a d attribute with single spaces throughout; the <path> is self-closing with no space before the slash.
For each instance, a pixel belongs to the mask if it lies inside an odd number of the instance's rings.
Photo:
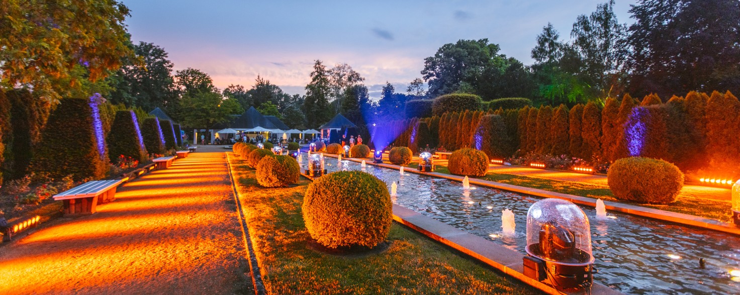
<path id="1" fill-rule="evenodd" d="M 306 85 L 306 101 L 303 102 L 307 127 L 317 128 L 332 118 L 332 112 L 329 109 L 331 91 L 329 71 L 320 60 L 316 60 L 314 70 L 311 72 L 311 82 Z"/>

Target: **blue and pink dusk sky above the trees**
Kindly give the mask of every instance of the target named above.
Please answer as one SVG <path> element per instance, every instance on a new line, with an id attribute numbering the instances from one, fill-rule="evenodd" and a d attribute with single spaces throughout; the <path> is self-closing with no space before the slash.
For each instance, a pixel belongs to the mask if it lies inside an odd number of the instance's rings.
<path id="1" fill-rule="evenodd" d="M 607 0 L 239 1 L 122 0 L 132 41 L 169 53 L 174 69 L 208 73 L 216 87 L 247 89 L 257 75 L 305 94 L 314 60 L 349 64 L 379 98 L 386 81 L 406 92 L 424 58 L 447 43 L 488 38 L 500 53 L 532 64 L 536 35 L 551 22 L 568 39 L 573 21 Z M 616 0 L 620 23 L 630 4 Z"/>

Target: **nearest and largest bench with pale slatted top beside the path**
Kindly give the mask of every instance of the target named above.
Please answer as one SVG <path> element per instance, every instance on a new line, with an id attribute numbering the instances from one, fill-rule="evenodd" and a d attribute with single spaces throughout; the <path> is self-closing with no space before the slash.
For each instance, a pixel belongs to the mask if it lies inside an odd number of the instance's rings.
<path id="1" fill-rule="evenodd" d="M 54 200 L 64 201 L 64 214 L 93 214 L 98 203 L 108 203 L 115 200 L 115 189 L 123 181 L 93 180 L 73 189 L 62 191 L 53 196 Z"/>

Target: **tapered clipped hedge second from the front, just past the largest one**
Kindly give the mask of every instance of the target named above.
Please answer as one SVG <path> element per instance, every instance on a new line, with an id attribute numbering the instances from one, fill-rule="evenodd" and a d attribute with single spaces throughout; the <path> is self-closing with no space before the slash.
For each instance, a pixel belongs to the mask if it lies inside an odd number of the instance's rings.
<path id="1" fill-rule="evenodd" d="M 115 112 L 115 119 L 113 119 L 106 138 L 108 157 L 112 163 L 116 163 L 121 155 L 139 161 L 147 159 L 147 149 L 144 147 L 144 139 L 139 134 L 140 130 L 136 121 L 137 118 L 133 111 Z"/>

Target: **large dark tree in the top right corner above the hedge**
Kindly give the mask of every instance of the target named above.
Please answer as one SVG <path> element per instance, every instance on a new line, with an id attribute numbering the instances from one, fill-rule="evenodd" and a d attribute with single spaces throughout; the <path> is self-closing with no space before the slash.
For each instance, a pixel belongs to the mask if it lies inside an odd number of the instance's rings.
<path id="1" fill-rule="evenodd" d="M 739 1 L 640 0 L 630 13 L 630 92 L 740 92 Z"/>

